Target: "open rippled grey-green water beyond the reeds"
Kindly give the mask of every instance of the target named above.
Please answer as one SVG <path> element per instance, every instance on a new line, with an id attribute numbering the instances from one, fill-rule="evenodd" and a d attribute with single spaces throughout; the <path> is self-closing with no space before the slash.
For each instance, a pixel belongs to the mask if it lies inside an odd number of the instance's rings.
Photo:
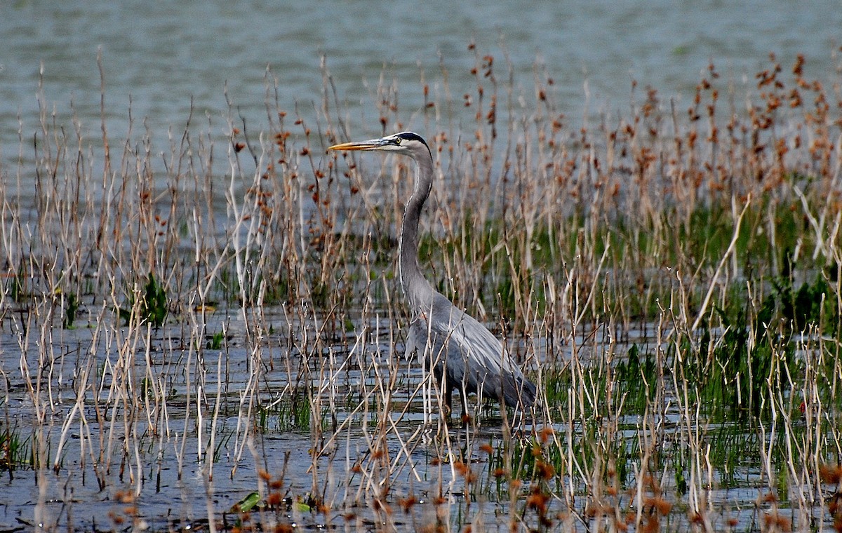
<path id="1" fill-rule="evenodd" d="M 469 73 L 474 41 L 481 55 L 504 53 L 516 83 L 530 92 L 536 57 L 561 96 L 561 112 L 627 109 L 631 81 L 688 99 L 709 61 L 737 83 L 753 82 L 775 52 L 784 67 L 807 56 L 807 77 L 828 80 L 842 41 L 842 9 L 834 0 L 792 3 L 298 2 L 121 3 L 18 0 L 0 16 L 0 156 L 18 151 L 18 117 L 29 139 L 37 125 L 36 92 L 43 65 L 48 108 L 61 118 L 70 105 L 99 131 L 102 51 L 107 114 L 115 133 L 132 115 L 155 136 L 184 127 L 191 101 L 200 118 L 226 109 L 225 87 L 256 129 L 266 124 L 264 75 L 279 80 L 283 109 L 312 115 L 322 92 L 319 63 L 327 56 L 355 130 L 379 131 L 373 97 L 384 66 L 402 88 L 401 120 L 423 129 L 419 67 L 433 90 L 460 99 L 476 83 Z M 498 67 L 500 68 L 500 67 Z M 498 71 L 502 72 L 502 71 Z M 359 111 L 354 115 L 354 110 Z M 95 135 L 94 135 L 95 136 Z"/>

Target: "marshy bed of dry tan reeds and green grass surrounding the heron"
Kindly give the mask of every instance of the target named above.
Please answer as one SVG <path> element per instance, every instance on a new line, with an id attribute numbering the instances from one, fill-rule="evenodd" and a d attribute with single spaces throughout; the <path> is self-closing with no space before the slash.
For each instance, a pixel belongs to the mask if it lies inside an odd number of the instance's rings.
<path id="1" fill-rule="evenodd" d="M 842 530 L 839 85 L 771 56 L 579 119 L 541 64 L 467 53 L 471 88 L 384 76 L 373 120 L 322 66 L 312 108 L 269 72 L 263 124 L 166 141 L 112 135 L 105 83 L 99 129 L 41 88 L 0 168 L 0 524 Z M 325 149 L 409 126 L 424 269 L 536 382 L 527 416 L 445 418 L 402 356 L 412 168 Z"/>

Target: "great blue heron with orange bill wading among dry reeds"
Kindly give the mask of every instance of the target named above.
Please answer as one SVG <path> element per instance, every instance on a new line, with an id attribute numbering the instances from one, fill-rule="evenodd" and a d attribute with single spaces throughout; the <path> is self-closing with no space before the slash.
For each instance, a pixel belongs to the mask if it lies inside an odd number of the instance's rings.
<path id="1" fill-rule="evenodd" d="M 381 139 L 345 142 L 329 150 L 377 150 L 412 157 L 415 187 L 403 215 L 398 248 L 398 272 L 409 301 L 412 321 L 407 338 L 408 354 L 418 349 L 429 361 L 436 380 L 444 385 L 446 413 L 451 412 L 453 390 L 459 389 L 462 414 L 467 414 L 466 395 L 493 397 L 510 407 L 529 408 L 536 387 L 525 378 L 504 345 L 488 328 L 429 284 L 418 266 L 418 219 L 433 187 L 433 154 L 427 141 L 403 131 Z"/>

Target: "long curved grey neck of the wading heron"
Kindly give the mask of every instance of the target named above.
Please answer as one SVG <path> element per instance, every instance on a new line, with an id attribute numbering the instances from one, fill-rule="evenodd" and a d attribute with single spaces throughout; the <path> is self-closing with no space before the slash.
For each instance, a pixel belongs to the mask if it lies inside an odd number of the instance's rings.
<path id="1" fill-rule="evenodd" d="M 415 188 L 403 213 L 398 250 L 398 274 L 403 293 L 407 295 L 413 311 L 417 311 L 424 303 L 429 303 L 426 300 L 434 294 L 418 265 L 418 221 L 424 202 L 429 198 L 429 191 L 433 187 L 433 159 L 424 154 L 418 157 L 415 163 Z"/>

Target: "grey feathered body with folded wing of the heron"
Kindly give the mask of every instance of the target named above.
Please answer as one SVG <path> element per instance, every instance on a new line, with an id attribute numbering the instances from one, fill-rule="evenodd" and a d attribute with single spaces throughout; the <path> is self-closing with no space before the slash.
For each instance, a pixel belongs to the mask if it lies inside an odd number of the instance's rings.
<path id="1" fill-rule="evenodd" d="M 432 340 L 430 340 L 432 339 Z M 450 301 L 436 294 L 428 315 L 422 314 L 409 328 L 408 353 L 416 349 L 446 370 L 449 381 L 493 397 L 510 407 L 530 407 L 536 386 L 525 378 L 503 344 L 488 328 Z"/>

